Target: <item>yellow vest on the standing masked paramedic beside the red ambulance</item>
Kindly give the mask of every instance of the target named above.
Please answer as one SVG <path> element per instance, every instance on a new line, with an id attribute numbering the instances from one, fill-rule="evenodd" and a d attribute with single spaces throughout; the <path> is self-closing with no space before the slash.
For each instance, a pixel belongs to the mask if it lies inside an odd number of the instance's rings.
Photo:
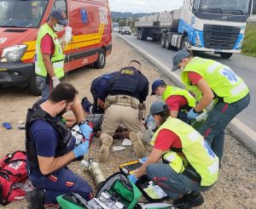
<path id="1" fill-rule="evenodd" d="M 36 42 L 36 58 L 35 58 L 35 72 L 38 76 L 47 76 L 47 71 L 43 62 L 43 56 L 41 53 L 41 41 L 45 34 L 49 34 L 55 43 L 55 54 L 51 56 L 51 62 L 55 70 L 55 76 L 61 78 L 64 76 L 64 59 L 65 55 L 62 53 L 61 43 L 47 23 L 42 25 L 38 31 L 38 37 Z"/>

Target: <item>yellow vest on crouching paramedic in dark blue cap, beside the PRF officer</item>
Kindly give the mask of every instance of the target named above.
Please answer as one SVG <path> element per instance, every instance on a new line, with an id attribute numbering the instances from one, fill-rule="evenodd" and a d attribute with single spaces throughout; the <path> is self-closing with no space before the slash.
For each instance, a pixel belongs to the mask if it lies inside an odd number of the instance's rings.
<path id="1" fill-rule="evenodd" d="M 189 107 L 195 107 L 195 98 L 185 89 L 167 86 L 163 93 L 163 99 L 166 101 L 170 96 L 179 95 L 187 99 Z"/>

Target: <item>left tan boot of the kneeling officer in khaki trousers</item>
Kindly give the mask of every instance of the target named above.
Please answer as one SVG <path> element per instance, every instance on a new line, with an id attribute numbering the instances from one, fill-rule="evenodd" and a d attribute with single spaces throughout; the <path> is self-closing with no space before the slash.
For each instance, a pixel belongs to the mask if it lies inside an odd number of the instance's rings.
<path id="1" fill-rule="evenodd" d="M 99 151 L 98 160 L 101 162 L 106 162 L 108 161 L 109 150 L 113 143 L 113 137 L 107 133 L 102 133 L 100 138 L 102 140 L 102 147 Z"/>

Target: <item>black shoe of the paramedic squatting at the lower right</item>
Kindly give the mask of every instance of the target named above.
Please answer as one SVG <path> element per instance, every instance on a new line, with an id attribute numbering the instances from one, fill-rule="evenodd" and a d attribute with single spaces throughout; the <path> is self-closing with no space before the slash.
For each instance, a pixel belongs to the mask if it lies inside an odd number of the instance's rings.
<path id="1" fill-rule="evenodd" d="M 179 209 L 189 209 L 194 206 L 201 206 L 203 203 L 204 198 L 199 192 L 190 192 L 173 201 L 174 206 Z"/>

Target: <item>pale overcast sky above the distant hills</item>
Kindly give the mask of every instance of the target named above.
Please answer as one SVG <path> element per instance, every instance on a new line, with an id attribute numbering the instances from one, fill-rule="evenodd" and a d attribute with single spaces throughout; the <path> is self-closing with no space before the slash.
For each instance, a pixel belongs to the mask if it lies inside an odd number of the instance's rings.
<path id="1" fill-rule="evenodd" d="M 153 13 L 180 8 L 182 0 L 108 0 L 114 12 Z"/>

